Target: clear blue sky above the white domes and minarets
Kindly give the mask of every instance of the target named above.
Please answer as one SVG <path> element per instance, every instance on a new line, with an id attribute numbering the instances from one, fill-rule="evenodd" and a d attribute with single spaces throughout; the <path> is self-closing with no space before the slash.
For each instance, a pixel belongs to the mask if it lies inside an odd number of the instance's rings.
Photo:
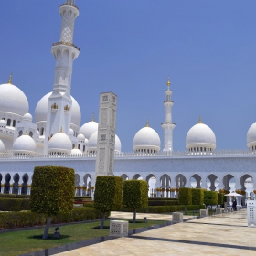
<path id="1" fill-rule="evenodd" d="M 52 90 L 59 41 L 59 5 L 64 0 L 2 0 L 0 83 L 37 101 Z M 72 96 L 81 124 L 98 120 L 101 92 L 118 95 L 117 135 L 123 151 L 146 120 L 161 138 L 165 83 L 171 77 L 174 149 L 185 150 L 188 130 L 198 122 L 214 131 L 217 149 L 246 148 L 256 121 L 255 0 L 76 0 Z"/>

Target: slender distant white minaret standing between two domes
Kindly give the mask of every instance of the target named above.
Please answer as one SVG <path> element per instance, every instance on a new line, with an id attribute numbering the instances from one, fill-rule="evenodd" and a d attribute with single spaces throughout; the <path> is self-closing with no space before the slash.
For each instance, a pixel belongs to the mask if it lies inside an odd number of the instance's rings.
<path id="1" fill-rule="evenodd" d="M 171 96 L 173 91 L 170 90 L 171 82 L 169 77 L 166 85 L 167 85 L 167 90 L 165 91 L 166 101 L 164 101 L 165 123 L 161 124 L 161 126 L 164 129 L 165 147 L 163 151 L 173 151 L 173 130 L 175 129 L 176 124 L 172 123 L 172 108 L 174 105 L 174 101 L 171 101 Z"/>

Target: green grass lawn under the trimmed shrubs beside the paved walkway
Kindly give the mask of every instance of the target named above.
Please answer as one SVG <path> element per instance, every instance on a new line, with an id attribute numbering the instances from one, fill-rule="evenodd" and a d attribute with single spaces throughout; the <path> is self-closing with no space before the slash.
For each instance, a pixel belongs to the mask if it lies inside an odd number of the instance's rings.
<path id="1" fill-rule="evenodd" d="M 127 219 L 126 219 L 127 220 Z M 129 229 L 140 229 L 143 227 L 162 224 L 165 221 L 148 221 L 147 223 L 129 223 Z M 105 226 L 110 222 L 105 221 Z M 109 229 L 95 229 L 100 226 L 100 221 L 82 224 L 72 224 L 60 227 L 60 239 L 42 240 L 44 229 L 12 231 L 0 233 L 0 255 L 19 255 L 29 251 L 39 251 L 61 244 L 77 242 L 80 240 L 89 240 L 109 234 Z M 49 229 L 49 235 L 54 233 L 54 227 Z"/>

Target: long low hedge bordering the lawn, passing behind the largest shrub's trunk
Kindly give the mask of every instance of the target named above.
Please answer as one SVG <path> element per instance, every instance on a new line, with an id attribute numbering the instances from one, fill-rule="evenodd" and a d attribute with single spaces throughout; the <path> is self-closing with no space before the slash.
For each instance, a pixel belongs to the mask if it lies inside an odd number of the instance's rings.
<path id="1" fill-rule="evenodd" d="M 107 216 L 109 215 L 110 212 L 107 212 Z M 45 225 L 46 218 L 43 213 L 31 211 L 0 213 L 0 229 L 16 229 Z M 54 216 L 52 223 L 69 223 L 90 219 L 101 219 L 101 213 L 94 208 L 73 208 L 71 213 L 59 213 Z"/>

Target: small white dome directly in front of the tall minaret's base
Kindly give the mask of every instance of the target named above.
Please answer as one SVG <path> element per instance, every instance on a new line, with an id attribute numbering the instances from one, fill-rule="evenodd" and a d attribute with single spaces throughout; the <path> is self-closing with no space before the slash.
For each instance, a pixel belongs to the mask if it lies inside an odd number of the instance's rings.
<path id="1" fill-rule="evenodd" d="M 48 153 L 70 154 L 72 143 L 66 133 L 56 133 L 48 141 Z"/>

